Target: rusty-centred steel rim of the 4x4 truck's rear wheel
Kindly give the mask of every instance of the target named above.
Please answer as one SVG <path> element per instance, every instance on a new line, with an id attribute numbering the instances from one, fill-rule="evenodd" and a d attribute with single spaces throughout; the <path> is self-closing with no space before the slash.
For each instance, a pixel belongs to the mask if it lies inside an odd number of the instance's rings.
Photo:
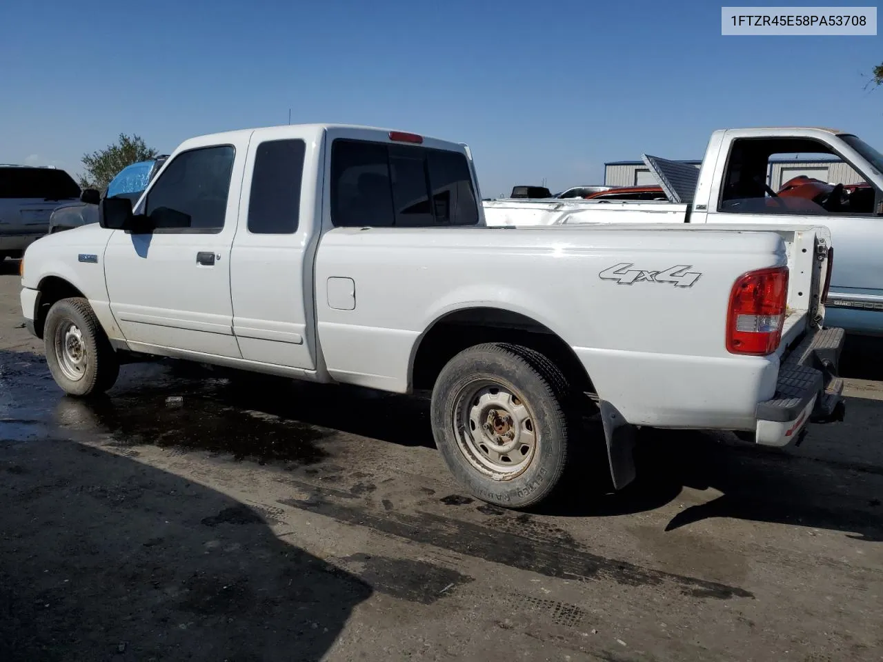
<path id="1" fill-rule="evenodd" d="M 530 404 L 514 387 L 497 380 L 473 380 L 460 389 L 454 429 L 466 460 L 502 480 L 524 473 L 540 444 Z"/>

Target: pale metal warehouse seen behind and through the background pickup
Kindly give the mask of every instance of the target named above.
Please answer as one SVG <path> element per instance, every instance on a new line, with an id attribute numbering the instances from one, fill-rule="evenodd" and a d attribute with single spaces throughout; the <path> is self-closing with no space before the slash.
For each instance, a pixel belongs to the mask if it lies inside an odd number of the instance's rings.
<path id="1" fill-rule="evenodd" d="M 697 168 L 701 161 L 683 161 Z M 792 177 L 805 175 L 821 179 L 823 182 L 837 184 L 858 184 L 864 182 L 849 163 L 842 161 L 799 161 L 796 159 L 778 159 L 770 161 L 766 172 L 766 183 L 774 191 Z M 608 186 L 641 186 L 656 184 L 643 161 L 612 161 L 604 164 L 604 184 Z"/>

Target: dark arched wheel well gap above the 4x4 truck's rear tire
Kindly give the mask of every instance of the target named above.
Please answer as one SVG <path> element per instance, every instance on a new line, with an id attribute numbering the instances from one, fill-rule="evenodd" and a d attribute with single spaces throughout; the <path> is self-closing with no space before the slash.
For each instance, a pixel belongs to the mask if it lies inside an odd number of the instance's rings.
<path id="1" fill-rule="evenodd" d="M 482 342 L 511 342 L 530 347 L 555 363 L 571 386 L 587 393 L 595 390 L 567 342 L 540 322 L 501 308 L 469 308 L 451 312 L 435 322 L 423 336 L 414 357 L 411 373 L 414 389 L 431 389 L 452 357 Z"/>

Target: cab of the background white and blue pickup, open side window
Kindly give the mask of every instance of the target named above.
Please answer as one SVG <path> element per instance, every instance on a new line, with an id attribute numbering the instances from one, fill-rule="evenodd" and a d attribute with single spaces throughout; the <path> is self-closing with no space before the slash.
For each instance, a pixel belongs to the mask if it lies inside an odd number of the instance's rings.
<path id="1" fill-rule="evenodd" d="M 829 185 L 809 198 L 776 192 L 767 184 L 768 173 L 782 167 L 783 155 L 798 154 L 832 160 Z M 827 323 L 883 335 L 883 154 L 857 136 L 809 127 L 714 132 L 698 173 L 690 222 L 825 225 L 834 246 Z"/>

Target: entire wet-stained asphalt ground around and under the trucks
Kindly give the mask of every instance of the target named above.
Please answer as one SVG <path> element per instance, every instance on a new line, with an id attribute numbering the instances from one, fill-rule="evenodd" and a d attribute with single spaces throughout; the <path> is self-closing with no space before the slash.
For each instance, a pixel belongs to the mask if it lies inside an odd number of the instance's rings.
<path id="1" fill-rule="evenodd" d="M 799 448 L 646 431 L 623 492 L 587 453 L 517 513 L 453 482 L 425 400 L 173 361 L 68 398 L 17 274 L 4 662 L 883 659 L 883 343 L 848 340 L 847 420 Z"/>

